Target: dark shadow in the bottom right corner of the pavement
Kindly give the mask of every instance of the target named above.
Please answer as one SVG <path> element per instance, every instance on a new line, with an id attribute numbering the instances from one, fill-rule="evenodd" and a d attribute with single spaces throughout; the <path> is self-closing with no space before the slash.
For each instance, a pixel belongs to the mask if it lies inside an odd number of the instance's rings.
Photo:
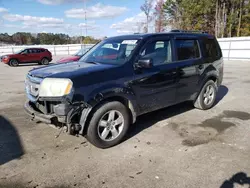
<path id="1" fill-rule="evenodd" d="M 239 172 L 237 174 L 234 174 L 229 180 L 224 181 L 220 188 L 239 187 L 236 184 L 239 184 L 244 187 L 245 185 L 248 185 L 248 187 L 250 187 L 250 177 L 248 177 L 247 174 L 244 172 Z"/>

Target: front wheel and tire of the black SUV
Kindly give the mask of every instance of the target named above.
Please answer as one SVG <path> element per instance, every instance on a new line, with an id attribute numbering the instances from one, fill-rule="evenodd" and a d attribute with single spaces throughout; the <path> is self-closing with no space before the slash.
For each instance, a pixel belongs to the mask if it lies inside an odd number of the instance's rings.
<path id="1" fill-rule="evenodd" d="M 114 115 L 113 115 L 114 114 Z M 127 108 L 118 101 L 107 102 L 94 112 L 87 129 L 87 139 L 98 148 L 119 144 L 129 127 Z"/>

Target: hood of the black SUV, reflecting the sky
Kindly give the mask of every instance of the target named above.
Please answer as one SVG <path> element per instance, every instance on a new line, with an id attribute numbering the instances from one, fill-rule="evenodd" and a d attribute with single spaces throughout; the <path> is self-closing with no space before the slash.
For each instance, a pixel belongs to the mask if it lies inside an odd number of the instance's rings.
<path id="1" fill-rule="evenodd" d="M 115 67 L 115 65 L 69 62 L 34 68 L 29 71 L 29 74 L 39 78 L 72 78 L 74 76 L 102 71 L 112 67 Z"/>

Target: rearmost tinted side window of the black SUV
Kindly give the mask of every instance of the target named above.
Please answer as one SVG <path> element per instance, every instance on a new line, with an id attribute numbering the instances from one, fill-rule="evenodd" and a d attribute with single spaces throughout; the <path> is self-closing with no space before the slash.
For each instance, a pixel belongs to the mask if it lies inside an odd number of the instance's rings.
<path id="1" fill-rule="evenodd" d="M 203 41 L 205 48 L 205 57 L 219 57 L 219 48 L 214 39 L 205 39 Z"/>

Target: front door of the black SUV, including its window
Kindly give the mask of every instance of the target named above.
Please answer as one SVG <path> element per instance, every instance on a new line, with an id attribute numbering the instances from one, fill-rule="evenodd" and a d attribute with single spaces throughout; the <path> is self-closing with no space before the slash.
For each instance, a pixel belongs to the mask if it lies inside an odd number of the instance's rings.
<path id="1" fill-rule="evenodd" d="M 149 41 L 140 51 L 139 59 L 151 59 L 151 68 L 135 70 L 132 89 L 137 97 L 140 113 L 147 113 L 175 103 L 176 64 L 172 63 L 169 38 Z"/>

